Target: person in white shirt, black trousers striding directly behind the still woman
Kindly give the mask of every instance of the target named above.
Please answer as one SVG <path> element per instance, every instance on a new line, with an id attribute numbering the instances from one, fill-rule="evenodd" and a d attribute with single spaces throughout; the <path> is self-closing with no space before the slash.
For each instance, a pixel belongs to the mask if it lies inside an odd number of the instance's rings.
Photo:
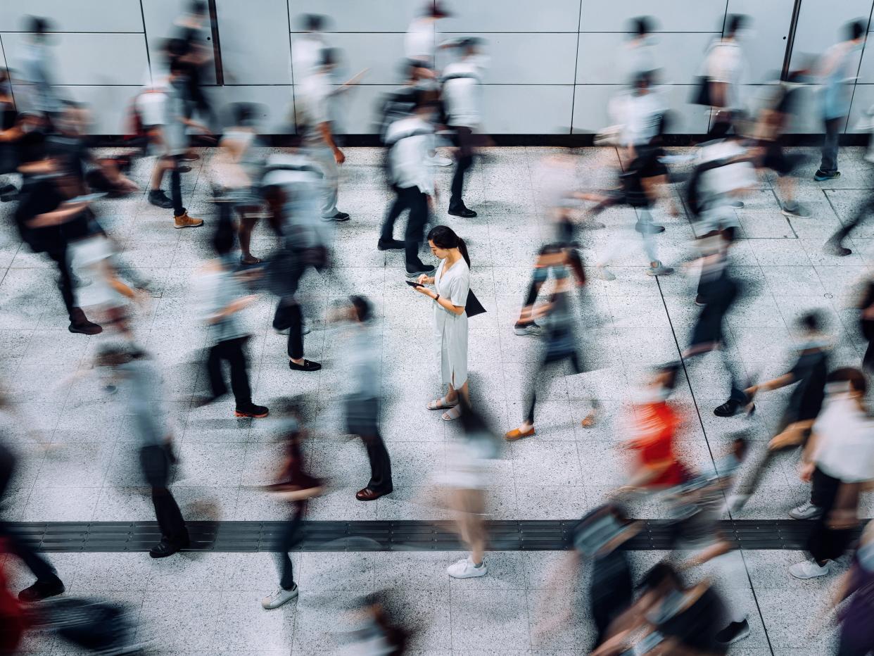
<path id="1" fill-rule="evenodd" d="M 434 204 L 434 172 L 429 156 L 434 149 L 433 114 L 434 102 L 428 100 L 427 92 L 419 91 L 413 115 L 392 122 L 385 133 L 388 174 L 395 199 L 383 222 L 377 248 L 404 250 L 406 275 L 410 277 L 434 273 L 434 267 L 419 257 L 428 206 Z M 410 217 L 406 221 L 404 241 L 398 241 L 392 237 L 392 229 L 406 210 L 410 211 Z"/>

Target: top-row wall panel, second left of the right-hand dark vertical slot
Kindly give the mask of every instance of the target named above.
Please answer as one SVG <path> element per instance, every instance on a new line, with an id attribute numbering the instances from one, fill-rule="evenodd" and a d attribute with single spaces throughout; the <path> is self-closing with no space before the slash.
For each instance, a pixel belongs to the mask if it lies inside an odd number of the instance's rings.
<path id="1" fill-rule="evenodd" d="M 765 0 L 770 2 L 770 0 Z M 723 0 L 582 0 L 579 31 L 628 31 L 628 19 L 655 18 L 658 31 L 721 31 Z"/>

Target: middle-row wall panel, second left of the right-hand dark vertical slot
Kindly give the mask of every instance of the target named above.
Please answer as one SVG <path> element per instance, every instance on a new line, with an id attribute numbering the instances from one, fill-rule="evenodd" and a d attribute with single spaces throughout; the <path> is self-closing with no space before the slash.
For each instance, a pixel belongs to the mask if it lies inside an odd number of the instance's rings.
<path id="1" fill-rule="evenodd" d="M 716 34 L 666 32 L 655 35 L 655 58 L 665 84 L 690 84 L 699 74 L 704 51 Z M 577 84 L 624 84 L 623 56 L 628 34 L 587 32 L 579 35 Z"/>

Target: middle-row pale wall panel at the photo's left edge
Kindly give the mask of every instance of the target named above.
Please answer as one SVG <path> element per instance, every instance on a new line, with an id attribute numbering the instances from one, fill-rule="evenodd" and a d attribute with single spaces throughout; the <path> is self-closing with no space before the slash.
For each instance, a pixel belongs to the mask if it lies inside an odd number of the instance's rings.
<path id="1" fill-rule="evenodd" d="M 10 67 L 18 68 L 27 35 L 4 32 L 2 38 Z M 148 63 L 142 34 L 56 34 L 52 43 L 58 84 L 142 84 Z"/>

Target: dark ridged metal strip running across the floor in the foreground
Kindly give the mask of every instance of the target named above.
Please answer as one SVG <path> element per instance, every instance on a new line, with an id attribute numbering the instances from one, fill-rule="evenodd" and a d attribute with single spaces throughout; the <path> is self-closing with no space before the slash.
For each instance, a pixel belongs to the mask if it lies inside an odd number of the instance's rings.
<path id="1" fill-rule="evenodd" d="M 489 548 L 500 551 L 565 549 L 576 520 L 489 521 Z M 720 528 L 740 548 L 803 549 L 811 521 L 723 520 Z M 190 521 L 191 550 L 270 551 L 281 521 Z M 7 524 L 39 551 L 148 551 L 160 539 L 156 522 L 10 522 Z M 453 551 L 461 548 L 448 522 L 305 521 L 296 551 Z M 670 548 L 670 528 L 646 520 L 628 542 L 635 551 Z"/>

